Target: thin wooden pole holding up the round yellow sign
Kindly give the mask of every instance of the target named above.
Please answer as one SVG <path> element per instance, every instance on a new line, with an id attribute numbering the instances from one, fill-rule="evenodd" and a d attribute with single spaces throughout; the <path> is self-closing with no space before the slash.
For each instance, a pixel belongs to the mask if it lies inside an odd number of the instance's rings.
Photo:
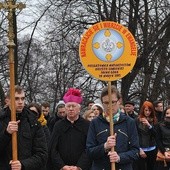
<path id="1" fill-rule="evenodd" d="M 109 94 L 109 117 L 110 117 L 110 135 L 114 134 L 114 123 L 113 123 L 113 113 L 112 113 L 112 94 L 111 94 L 111 82 L 108 82 L 108 94 Z M 111 148 L 114 151 L 114 147 Z M 115 163 L 111 163 L 111 170 L 115 170 Z"/>

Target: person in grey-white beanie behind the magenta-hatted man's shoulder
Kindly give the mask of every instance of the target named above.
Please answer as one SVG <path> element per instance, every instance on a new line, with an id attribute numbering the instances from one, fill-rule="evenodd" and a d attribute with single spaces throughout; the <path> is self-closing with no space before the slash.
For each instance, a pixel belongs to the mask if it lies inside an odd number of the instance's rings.
<path id="1" fill-rule="evenodd" d="M 49 124 L 49 130 L 50 133 L 52 133 L 54 125 L 57 121 L 63 119 L 66 116 L 66 109 L 65 109 L 65 102 L 63 100 L 60 100 L 57 103 L 55 114 L 51 118 L 50 124 Z"/>

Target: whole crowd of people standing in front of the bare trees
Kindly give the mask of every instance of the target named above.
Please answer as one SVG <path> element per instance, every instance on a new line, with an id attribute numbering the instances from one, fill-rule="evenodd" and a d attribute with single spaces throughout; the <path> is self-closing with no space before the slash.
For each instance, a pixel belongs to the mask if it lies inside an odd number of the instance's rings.
<path id="1" fill-rule="evenodd" d="M 122 104 L 115 86 L 83 113 L 82 101 L 81 91 L 70 88 L 51 116 L 48 102 L 25 105 L 25 91 L 16 85 L 11 121 L 8 91 L 0 112 L 0 170 L 170 170 L 170 106 L 145 101 L 136 112 L 133 101 Z"/>

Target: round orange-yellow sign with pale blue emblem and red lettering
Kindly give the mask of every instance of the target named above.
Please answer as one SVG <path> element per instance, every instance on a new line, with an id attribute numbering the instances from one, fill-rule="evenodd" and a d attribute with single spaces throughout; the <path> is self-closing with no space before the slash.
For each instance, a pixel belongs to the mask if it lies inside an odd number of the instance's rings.
<path id="1" fill-rule="evenodd" d="M 134 67 L 137 46 L 129 30 L 112 21 L 99 22 L 83 35 L 80 60 L 92 76 L 114 81 L 126 76 Z"/>

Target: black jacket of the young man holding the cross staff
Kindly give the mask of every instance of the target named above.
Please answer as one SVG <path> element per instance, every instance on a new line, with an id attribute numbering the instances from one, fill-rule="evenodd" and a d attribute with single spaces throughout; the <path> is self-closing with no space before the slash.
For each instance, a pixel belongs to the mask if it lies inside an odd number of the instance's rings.
<path id="1" fill-rule="evenodd" d="M 17 120 L 20 120 L 17 132 L 18 160 L 22 164 L 22 169 L 45 169 L 48 158 L 47 143 L 36 115 L 24 108 L 22 113 L 17 114 Z M 9 162 L 12 160 L 12 137 L 6 131 L 9 121 L 10 109 L 6 108 L 0 114 L 0 170 L 11 169 Z"/>

